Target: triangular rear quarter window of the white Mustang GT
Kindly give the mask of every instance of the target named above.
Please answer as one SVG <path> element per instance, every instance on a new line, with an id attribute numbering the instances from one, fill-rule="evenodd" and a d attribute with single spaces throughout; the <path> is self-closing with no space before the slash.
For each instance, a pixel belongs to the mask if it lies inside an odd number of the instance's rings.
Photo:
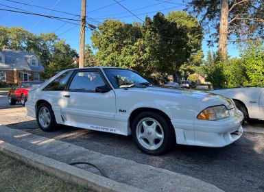
<path id="1" fill-rule="evenodd" d="M 64 91 L 64 88 L 73 71 L 67 71 L 49 83 L 43 91 Z"/>

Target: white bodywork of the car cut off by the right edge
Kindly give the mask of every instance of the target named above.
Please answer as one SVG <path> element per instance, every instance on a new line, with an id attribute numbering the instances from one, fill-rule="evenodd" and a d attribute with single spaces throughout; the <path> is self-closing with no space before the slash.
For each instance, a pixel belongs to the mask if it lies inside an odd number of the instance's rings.
<path id="1" fill-rule="evenodd" d="M 237 108 L 243 112 L 245 121 L 264 120 L 264 88 L 224 88 L 210 92 L 233 99 Z"/>

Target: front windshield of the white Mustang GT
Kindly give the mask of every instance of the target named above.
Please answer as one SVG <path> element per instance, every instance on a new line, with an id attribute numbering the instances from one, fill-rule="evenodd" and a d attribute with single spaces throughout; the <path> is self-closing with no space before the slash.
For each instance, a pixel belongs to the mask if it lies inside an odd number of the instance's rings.
<path id="1" fill-rule="evenodd" d="M 146 87 L 150 82 L 144 77 L 128 69 L 104 69 L 106 77 L 115 88 Z"/>

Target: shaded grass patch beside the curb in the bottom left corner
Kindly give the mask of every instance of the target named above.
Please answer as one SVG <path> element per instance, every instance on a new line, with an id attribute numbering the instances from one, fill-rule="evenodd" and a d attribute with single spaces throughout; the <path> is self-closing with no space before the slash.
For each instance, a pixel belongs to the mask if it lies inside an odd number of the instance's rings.
<path id="1" fill-rule="evenodd" d="M 49 176 L 0 152 L 0 191 L 90 191 Z"/>

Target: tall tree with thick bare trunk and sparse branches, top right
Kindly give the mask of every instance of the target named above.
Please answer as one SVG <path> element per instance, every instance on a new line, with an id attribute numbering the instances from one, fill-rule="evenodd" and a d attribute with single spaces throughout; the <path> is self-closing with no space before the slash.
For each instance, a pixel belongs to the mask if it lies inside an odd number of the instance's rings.
<path id="1" fill-rule="evenodd" d="M 209 43 L 218 40 L 221 59 L 228 58 L 228 38 L 251 39 L 264 36 L 264 2 L 262 0 L 191 0 L 187 8 L 201 14 L 201 23 L 217 31 Z M 212 23 L 212 25 L 209 25 Z M 240 41 L 241 42 L 241 41 Z"/>

